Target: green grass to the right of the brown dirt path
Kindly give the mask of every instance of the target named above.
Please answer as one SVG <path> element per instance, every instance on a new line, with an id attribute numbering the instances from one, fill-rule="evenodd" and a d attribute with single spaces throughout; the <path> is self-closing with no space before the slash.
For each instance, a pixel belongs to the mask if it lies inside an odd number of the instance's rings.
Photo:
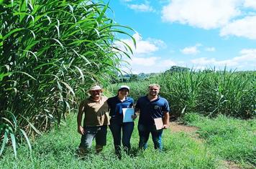
<path id="1" fill-rule="evenodd" d="M 224 115 L 209 119 L 197 114 L 188 114 L 183 120 L 200 128 L 198 134 L 215 155 L 256 166 L 256 120 L 239 120 Z"/>

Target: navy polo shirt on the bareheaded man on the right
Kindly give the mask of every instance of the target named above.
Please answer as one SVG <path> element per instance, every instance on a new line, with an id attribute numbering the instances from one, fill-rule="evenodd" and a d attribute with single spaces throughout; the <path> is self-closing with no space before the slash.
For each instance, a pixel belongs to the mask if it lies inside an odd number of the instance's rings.
<path id="1" fill-rule="evenodd" d="M 155 118 L 163 117 L 164 112 L 170 112 L 168 101 L 160 96 L 152 102 L 147 96 L 140 97 L 135 108 L 140 109 L 139 124 L 142 125 L 154 125 Z"/>

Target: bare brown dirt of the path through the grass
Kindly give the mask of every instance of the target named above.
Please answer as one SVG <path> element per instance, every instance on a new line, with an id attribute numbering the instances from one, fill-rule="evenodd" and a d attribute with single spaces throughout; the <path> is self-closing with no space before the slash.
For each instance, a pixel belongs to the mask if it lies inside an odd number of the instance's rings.
<path id="1" fill-rule="evenodd" d="M 204 143 L 204 140 L 199 138 L 198 133 L 196 133 L 197 130 L 198 130 L 198 127 L 183 125 L 182 123 L 179 123 L 179 122 L 170 122 L 171 132 L 186 132 L 188 133 L 188 135 L 191 135 L 191 137 L 194 140 L 198 141 L 198 143 Z M 239 165 L 237 165 L 232 161 L 224 160 L 222 163 L 223 163 L 223 166 L 220 166 L 221 169 L 222 168 L 223 169 L 242 169 L 242 167 L 240 167 Z"/>

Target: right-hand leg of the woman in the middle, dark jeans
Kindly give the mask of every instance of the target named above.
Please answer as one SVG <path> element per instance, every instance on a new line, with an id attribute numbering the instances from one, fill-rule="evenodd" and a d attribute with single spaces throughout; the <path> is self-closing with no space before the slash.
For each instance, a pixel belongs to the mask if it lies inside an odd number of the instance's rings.
<path id="1" fill-rule="evenodd" d="M 131 137 L 132 131 L 134 129 L 134 122 L 124 122 L 122 125 L 122 144 L 124 145 L 124 150 L 129 153 L 131 149 Z"/>

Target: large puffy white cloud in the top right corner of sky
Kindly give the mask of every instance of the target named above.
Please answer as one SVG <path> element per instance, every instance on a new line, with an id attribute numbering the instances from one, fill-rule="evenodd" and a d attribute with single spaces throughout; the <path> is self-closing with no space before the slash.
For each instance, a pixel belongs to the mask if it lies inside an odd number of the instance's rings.
<path id="1" fill-rule="evenodd" d="M 256 39 L 255 9 L 256 0 L 173 0 L 163 7 L 162 19 L 202 29 L 220 29 L 222 37 Z"/>

